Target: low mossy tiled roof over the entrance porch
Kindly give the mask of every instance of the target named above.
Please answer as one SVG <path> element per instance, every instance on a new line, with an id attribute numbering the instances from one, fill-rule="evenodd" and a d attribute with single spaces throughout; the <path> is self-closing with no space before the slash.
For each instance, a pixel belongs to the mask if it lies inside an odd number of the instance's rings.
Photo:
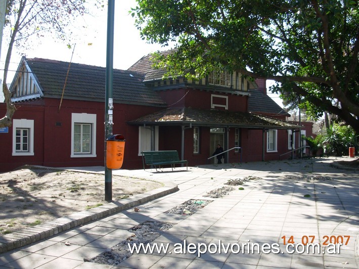
<path id="1" fill-rule="evenodd" d="M 136 120 L 129 124 L 178 125 L 196 124 L 199 126 L 237 126 L 247 128 L 299 128 L 298 125 L 257 114 L 231 112 L 227 110 L 204 110 L 197 108 L 168 108 Z"/>

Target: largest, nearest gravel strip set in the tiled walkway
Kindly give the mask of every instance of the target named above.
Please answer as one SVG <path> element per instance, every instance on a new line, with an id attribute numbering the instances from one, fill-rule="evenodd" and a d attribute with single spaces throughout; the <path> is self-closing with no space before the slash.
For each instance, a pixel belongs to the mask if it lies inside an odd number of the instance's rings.
<path id="1" fill-rule="evenodd" d="M 147 243 L 151 243 L 161 236 L 163 231 L 170 229 L 173 225 L 174 223 L 160 221 L 146 221 L 141 225 L 136 225 L 128 230 L 133 234 L 126 240 L 121 241 L 92 259 L 84 259 L 84 261 L 118 265 L 132 255 L 130 248 L 133 248 L 133 244 L 140 248 L 140 244 L 143 243 L 146 247 Z M 143 250 L 141 252 L 143 253 Z M 134 253 L 136 253 L 136 249 Z"/>

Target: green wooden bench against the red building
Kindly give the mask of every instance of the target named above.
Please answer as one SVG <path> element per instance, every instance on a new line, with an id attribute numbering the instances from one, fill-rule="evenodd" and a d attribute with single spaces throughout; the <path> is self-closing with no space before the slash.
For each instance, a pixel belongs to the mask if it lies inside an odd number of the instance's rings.
<path id="1" fill-rule="evenodd" d="M 163 150 L 163 151 L 143 151 L 142 153 L 142 162 L 144 165 L 153 165 L 156 168 L 157 166 L 160 168 L 161 165 L 170 164 L 172 171 L 175 164 L 186 163 L 188 170 L 188 161 L 187 160 L 179 160 L 178 152 L 176 150 Z"/>

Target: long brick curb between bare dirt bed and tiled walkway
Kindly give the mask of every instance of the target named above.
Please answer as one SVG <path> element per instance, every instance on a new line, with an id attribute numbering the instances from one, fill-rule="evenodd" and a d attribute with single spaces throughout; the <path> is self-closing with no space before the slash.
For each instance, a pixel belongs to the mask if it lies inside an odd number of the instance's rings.
<path id="1" fill-rule="evenodd" d="M 0 236 L 0 253 L 23 247 L 36 241 L 49 238 L 58 233 L 70 230 L 88 222 L 109 216 L 111 214 L 126 210 L 133 206 L 155 200 L 168 194 L 178 191 L 175 184 L 166 184 L 167 186 L 158 188 L 146 193 L 131 196 L 122 199 L 121 202 L 114 201 L 106 205 L 91 208 L 81 212 L 76 212 L 68 216 L 53 219 L 40 225 L 21 229 L 11 234 Z M 172 186 L 168 186 L 172 185 Z"/>

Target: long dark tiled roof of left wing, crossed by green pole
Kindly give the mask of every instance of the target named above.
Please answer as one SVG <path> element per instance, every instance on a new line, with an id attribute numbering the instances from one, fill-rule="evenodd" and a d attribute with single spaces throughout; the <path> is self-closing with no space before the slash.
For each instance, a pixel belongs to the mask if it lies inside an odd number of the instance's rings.
<path id="1" fill-rule="evenodd" d="M 36 76 L 45 97 L 61 97 L 69 63 L 48 59 L 25 59 Z M 144 74 L 113 70 L 113 100 L 115 103 L 164 106 L 160 96 L 143 83 Z M 71 63 L 65 99 L 103 101 L 105 99 L 106 68 Z"/>

